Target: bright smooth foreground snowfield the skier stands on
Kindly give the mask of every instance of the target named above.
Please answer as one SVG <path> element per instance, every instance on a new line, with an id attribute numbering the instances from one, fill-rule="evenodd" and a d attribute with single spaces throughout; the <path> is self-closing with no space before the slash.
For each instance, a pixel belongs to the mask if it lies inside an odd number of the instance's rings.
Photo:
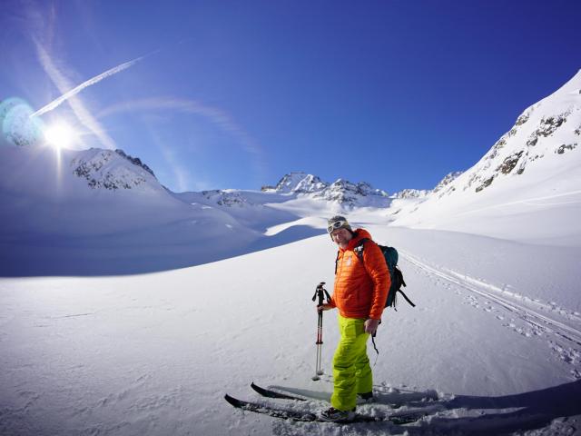
<path id="1" fill-rule="evenodd" d="M 384 314 L 373 367 L 379 402 L 359 411 L 384 416 L 399 401 L 398 411 L 436 409 L 419 422 L 292 423 L 223 400 L 226 392 L 259 400 L 251 381 L 329 398 L 335 312 L 323 320 L 327 375 L 310 380 L 311 296 L 321 281 L 332 289 L 335 258 L 321 235 L 172 272 L 1 279 L 0 433 L 576 434 L 579 249 L 541 257 L 532 245 L 462 233 L 369 230 L 399 248 L 417 307 L 400 302 Z M 433 390 L 437 401 L 405 402 Z"/>

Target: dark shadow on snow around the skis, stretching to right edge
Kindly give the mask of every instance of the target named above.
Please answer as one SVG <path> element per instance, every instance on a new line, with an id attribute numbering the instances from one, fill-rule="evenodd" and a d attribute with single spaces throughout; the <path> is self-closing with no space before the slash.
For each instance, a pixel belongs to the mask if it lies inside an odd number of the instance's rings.
<path id="1" fill-rule="evenodd" d="M 286 387 L 274 387 L 291 391 L 312 399 L 329 401 L 328 392 L 307 391 Z M 435 391 L 381 391 L 376 390 L 377 402 L 364 405 L 365 408 L 377 408 L 379 404 L 402 404 L 405 408 L 399 411 L 421 411 L 422 408 L 431 409 L 441 406 L 441 410 L 428 413 L 420 421 L 398 426 L 389 422 L 361 423 L 350 425 L 349 434 L 369 434 L 374 431 L 389 430 L 389 434 L 477 434 L 501 435 L 515 431 L 534 431 L 547 429 L 555 425 L 553 421 L 559 418 L 568 418 L 581 415 L 581 380 L 561 384 L 551 388 L 505 395 L 500 397 L 479 397 L 470 395 L 454 395 L 448 400 L 428 400 L 434 398 Z M 438 410 L 438 408 L 436 408 Z M 377 410 L 379 411 L 379 410 Z M 389 411 L 394 411 L 389 409 Z M 553 423 L 553 424 L 552 424 Z M 307 424 L 307 425 L 334 425 L 334 424 Z M 566 425 L 558 422 L 556 425 Z M 296 429 L 294 429 L 296 430 Z M 296 432 L 286 421 L 274 421 L 274 433 L 291 435 Z M 302 430 L 308 430 L 303 428 Z M 314 430 L 313 430 L 314 431 Z M 557 429 L 548 429 L 550 433 Z M 559 430 L 560 431 L 560 430 Z M 342 434 L 342 433 L 341 433 Z"/>

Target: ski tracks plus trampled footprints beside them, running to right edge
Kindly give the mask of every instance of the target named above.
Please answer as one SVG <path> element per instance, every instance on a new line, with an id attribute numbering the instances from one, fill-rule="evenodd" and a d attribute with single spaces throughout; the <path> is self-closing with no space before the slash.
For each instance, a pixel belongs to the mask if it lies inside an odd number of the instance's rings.
<path id="1" fill-rule="evenodd" d="M 503 322 L 505 327 L 528 338 L 546 338 L 548 346 L 558 358 L 574 366 L 571 375 L 581 379 L 581 371 L 578 369 L 581 362 L 581 330 L 566 323 L 581 325 L 579 313 L 568 312 L 554 302 L 540 302 L 507 291 L 464 273 L 429 265 L 410 253 L 399 251 L 399 254 L 420 270 L 470 292 L 466 297 L 468 303 L 477 309 L 483 307 L 484 311 L 495 313 L 497 320 Z M 478 298 L 484 298 L 485 302 L 482 303 Z M 519 326 L 517 320 L 525 322 L 527 327 Z"/>

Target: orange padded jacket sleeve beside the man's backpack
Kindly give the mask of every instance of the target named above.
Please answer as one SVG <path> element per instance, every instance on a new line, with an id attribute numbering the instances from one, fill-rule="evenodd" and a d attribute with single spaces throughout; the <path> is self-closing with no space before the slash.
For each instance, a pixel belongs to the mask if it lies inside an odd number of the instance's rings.
<path id="1" fill-rule="evenodd" d="M 385 302 L 388 299 L 391 278 L 389 276 L 388 264 L 385 262 L 383 253 L 377 243 L 366 243 L 363 250 L 363 264 L 373 282 L 373 295 L 371 299 L 371 309 L 369 318 L 380 320 L 381 313 L 385 309 Z"/>

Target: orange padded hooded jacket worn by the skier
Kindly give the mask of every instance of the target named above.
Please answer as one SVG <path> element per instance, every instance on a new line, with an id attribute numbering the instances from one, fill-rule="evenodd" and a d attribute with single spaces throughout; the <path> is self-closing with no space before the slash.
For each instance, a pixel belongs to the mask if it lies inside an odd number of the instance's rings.
<path id="1" fill-rule="evenodd" d="M 376 243 L 365 243 L 363 263 L 353 249 L 369 232 L 357 229 L 345 250 L 339 249 L 335 286 L 330 304 L 345 318 L 381 319 L 388 298 L 388 265 Z"/>

